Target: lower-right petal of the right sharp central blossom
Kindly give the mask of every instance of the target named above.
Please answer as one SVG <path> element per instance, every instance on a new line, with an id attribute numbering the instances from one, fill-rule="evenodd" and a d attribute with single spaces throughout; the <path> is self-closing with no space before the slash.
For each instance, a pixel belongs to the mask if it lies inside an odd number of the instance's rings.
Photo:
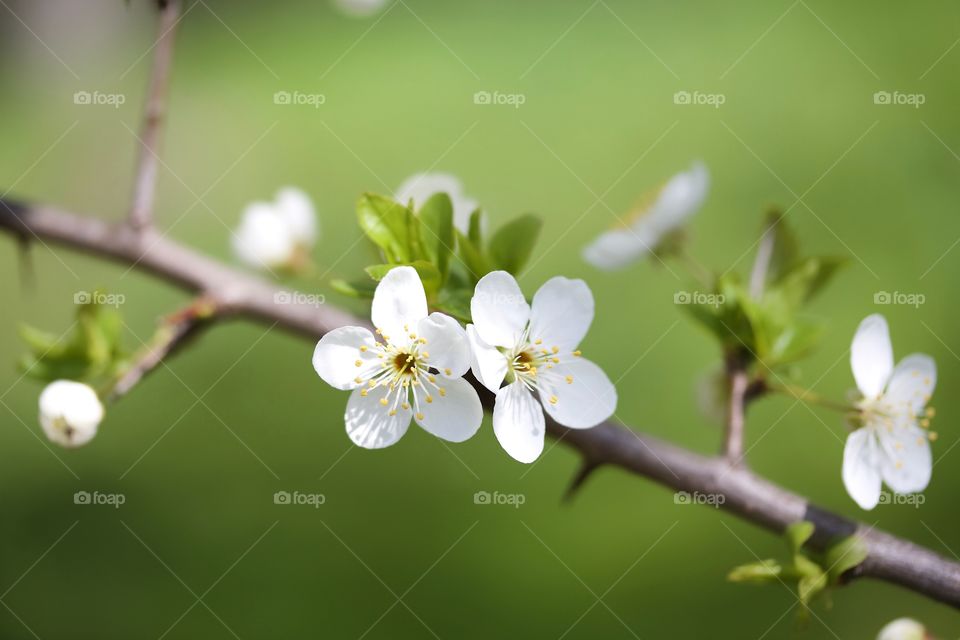
<path id="1" fill-rule="evenodd" d="M 589 360 L 572 358 L 552 369 L 541 367 L 537 376 L 543 408 L 565 427 L 595 427 L 617 409 L 616 388 L 603 369 Z"/>

